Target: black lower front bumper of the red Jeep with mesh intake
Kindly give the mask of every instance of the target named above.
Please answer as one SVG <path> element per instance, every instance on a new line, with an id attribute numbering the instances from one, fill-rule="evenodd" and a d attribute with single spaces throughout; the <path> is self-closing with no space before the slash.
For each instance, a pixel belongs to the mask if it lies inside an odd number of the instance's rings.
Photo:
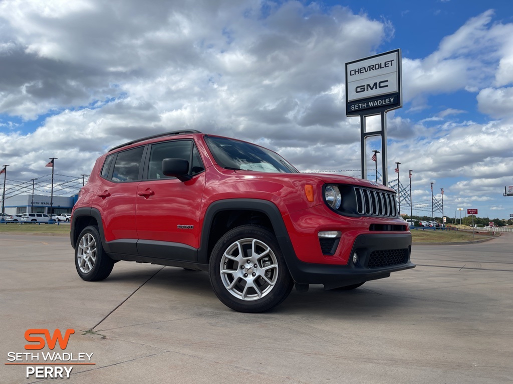
<path id="1" fill-rule="evenodd" d="M 352 262 L 357 252 L 358 262 Z M 347 265 L 305 263 L 285 253 L 290 274 L 299 284 L 324 284 L 327 289 L 383 279 L 391 272 L 415 268 L 410 261 L 410 233 L 361 234 L 353 243 Z"/>

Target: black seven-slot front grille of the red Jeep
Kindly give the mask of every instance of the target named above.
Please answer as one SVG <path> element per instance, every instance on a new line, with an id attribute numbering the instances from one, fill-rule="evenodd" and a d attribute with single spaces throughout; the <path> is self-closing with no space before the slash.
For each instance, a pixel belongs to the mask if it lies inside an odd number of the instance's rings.
<path id="1" fill-rule="evenodd" d="M 365 216 L 398 217 L 396 194 L 379 189 L 354 187 L 357 212 Z"/>

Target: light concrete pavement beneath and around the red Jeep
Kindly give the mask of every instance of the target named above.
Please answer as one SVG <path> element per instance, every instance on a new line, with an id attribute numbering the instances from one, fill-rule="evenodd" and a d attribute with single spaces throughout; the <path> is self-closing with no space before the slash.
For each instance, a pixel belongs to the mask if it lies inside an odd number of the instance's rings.
<path id="1" fill-rule="evenodd" d="M 0 382 L 54 380 L 27 379 L 9 352 L 27 352 L 27 329 L 74 329 L 53 351 L 93 353 L 94 365 L 72 366 L 73 383 L 510 383 L 511 249 L 508 234 L 414 246 L 415 269 L 245 314 L 204 272 L 119 262 L 88 283 L 67 237 L 0 234 Z"/>

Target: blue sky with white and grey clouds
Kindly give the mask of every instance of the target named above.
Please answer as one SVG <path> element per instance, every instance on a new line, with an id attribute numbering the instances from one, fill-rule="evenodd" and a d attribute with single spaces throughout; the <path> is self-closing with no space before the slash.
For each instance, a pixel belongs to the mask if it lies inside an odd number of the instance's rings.
<path id="1" fill-rule="evenodd" d="M 400 162 L 409 195 L 412 169 L 414 216 L 430 216 L 433 183 L 446 216 L 509 218 L 513 3 L 504 0 L 2 0 L 6 205 L 31 179 L 49 194 L 49 158 L 71 195 L 109 148 L 181 129 L 266 146 L 301 172 L 361 177 L 345 63 L 396 49 L 403 107 L 387 113 L 388 180 Z M 366 121 L 379 129 L 379 118 Z M 379 145 L 368 141 L 367 152 Z"/>

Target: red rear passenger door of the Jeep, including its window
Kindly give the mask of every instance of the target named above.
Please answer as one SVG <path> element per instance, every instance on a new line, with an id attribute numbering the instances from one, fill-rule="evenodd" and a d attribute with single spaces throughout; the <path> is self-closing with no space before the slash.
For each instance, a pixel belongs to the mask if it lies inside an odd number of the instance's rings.
<path id="1" fill-rule="evenodd" d="M 108 251 L 137 254 L 135 197 L 142 176 L 145 146 L 107 156 L 102 168 L 100 187 L 92 208 L 100 211 Z"/>

